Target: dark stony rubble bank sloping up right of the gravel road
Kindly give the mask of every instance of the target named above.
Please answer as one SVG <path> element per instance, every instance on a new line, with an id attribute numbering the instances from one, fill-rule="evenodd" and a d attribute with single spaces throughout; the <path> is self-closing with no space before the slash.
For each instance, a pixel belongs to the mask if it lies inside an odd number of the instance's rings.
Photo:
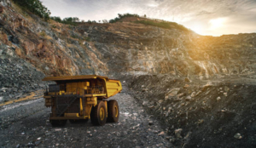
<path id="1" fill-rule="evenodd" d="M 185 77 L 140 76 L 133 79 L 129 93 L 145 111 L 159 118 L 172 136 L 172 145 L 254 148 L 255 84 L 255 79 L 245 77 L 190 81 Z"/>

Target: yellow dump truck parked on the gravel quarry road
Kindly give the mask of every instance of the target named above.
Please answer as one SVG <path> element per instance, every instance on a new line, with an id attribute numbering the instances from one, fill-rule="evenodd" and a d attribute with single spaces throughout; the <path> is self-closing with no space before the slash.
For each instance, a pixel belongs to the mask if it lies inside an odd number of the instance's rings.
<path id="1" fill-rule="evenodd" d="M 96 75 L 44 77 L 54 81 L 44 93 L 45 106 L 51 107 L 49 121 L 53 126 L 88 121 L 94 125 L 118 122 L 119 105 L 109 97 L 122 90 L 119 80 Z"/>

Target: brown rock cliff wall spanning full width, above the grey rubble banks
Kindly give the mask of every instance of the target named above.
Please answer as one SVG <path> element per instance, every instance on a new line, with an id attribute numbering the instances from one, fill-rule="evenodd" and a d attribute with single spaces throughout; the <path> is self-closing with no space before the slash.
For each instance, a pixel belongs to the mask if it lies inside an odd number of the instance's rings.
<path id="1" fill-rule="evenodd" d="M 5 2 L 5 1 L 4 1 Z M 203 37 L 131 22 L 67 26 L 1 7 L 1 43 L 46 75 L 253 77 L 256 34 Z"/>

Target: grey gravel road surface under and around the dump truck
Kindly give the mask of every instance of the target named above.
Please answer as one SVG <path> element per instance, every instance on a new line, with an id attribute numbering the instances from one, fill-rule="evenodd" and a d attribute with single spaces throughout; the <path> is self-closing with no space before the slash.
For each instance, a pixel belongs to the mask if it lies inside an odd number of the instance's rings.
<path id="1" fill-rule="evenodd" d="M 3 106 L 0 110 L 1 147 L 172 147 L 160 123 L 125 91 L 119 102 L 119 122 L 93 126 L 89 122 L 52 128 L 44 99 Z M 148 122 L 152 122 L 149 123 Z"/>

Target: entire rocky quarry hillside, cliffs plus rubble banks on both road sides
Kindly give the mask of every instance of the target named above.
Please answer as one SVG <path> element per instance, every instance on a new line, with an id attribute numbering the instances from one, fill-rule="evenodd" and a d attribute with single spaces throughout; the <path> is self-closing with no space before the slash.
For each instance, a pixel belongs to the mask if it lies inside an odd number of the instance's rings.
<path id="1" fill-rule="evenodd" d="M 44 88 L 45 76 L 97 74 L 122 79 L 168 133 L 183 129 L 174 145 L 255 145 L 256 34 L 205 37 L 137 20 L 69 26 L 0 1 L 0 103 Z"/>

